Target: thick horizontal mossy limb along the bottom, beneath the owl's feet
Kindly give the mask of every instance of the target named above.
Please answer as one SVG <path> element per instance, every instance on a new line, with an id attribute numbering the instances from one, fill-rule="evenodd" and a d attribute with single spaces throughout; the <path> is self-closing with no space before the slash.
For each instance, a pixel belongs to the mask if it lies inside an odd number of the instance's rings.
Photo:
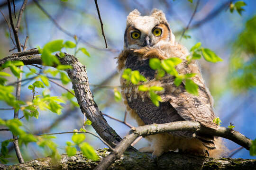
<path id="1" fill-rule="evenodd" d="M 108 149 L 99 149 L 101 160 L 109 154 Z M 7 170 L 93 170 L 101 161 L 91 161 L 77 153 L 68 157 L 63 154 L 59 163 L 51 158 L 39 158 L 25 164 L 5 166 Z M 108 170 L 255 170 L 256 160 L 207 158 L 183 153 L 169 152 L 155 161 L 151 154 L 125 152 L 119 160 L 110 165 Z M 0 166 L 1 169 L 1 166 Z"/>

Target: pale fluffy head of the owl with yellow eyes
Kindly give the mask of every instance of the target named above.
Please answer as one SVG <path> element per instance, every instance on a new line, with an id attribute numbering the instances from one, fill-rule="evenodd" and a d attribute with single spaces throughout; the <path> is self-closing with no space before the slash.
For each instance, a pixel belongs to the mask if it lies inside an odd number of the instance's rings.
<path id="1" fill-rule="evenodd" d="M 124 34 L 125 49 L 157 47 L 161 42 L 175 42 L 175 36 L 163 11 L 153 9 L 150 16 L 141 16 L 137 9 L 129 13 Z"/>

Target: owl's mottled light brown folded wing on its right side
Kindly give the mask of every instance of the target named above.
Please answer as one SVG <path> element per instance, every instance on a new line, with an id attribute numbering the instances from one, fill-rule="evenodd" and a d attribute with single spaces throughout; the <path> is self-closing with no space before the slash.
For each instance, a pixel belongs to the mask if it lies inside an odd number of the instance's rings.
<path id="1" fill-rule="evenodd" d="M 168 51 L 167 51 L 168 52 Z M 179 86 L 179 90 L 173 92 L 168 88 L 177 88 L 173 84 L 174 81 L 170 80 L 171 85 L 167 83 L 167 90 L 161 96 L 164 101 L 169 101 L 170 104 L 177 110 L 177 113 L 185 120 L 198 121 L 206 127 L 216 128 L 218 127 L 213 119 L 215 118 L 213 112 L 213 102 L 211 99 L 210 92 L 205 86 L 201 71 L 197 61 L 193 60 L 188 64 L 186 56 L 188 55 L 187 50 L 182 45 L 169 48 L 169 56 L 178 57 L 183 60 L 176 69 L 179 74 L 196 73 L 191 79 L 198 85 L 198 95 L 193 95 L 185 90 L 185 82 Z M 168 53 L 165 53 L 168 56 Z M 169 86 L 169 87 L 168 87 Z"/>

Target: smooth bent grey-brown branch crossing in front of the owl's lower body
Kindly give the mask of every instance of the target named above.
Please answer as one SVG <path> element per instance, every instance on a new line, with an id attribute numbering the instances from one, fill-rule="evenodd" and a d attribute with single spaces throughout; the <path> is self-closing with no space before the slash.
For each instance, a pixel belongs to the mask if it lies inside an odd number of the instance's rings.
<path id="1" fill-rule="evenodd" d="M 212 129 L 209 127 L 201 126 L 199 122 L 194 121 L 177 121 L 165 124 L 152 124 L 140 127 L 133 127 L 127 136 L 123 138 L 121 142 L 115 147 L 115 149 L 104 158 L 99 165 L 94 168 L 94 170 L 106 170 L 110 164 L 126 151 L 128 146 L 138 137 L 138 136 L 149 136 L 155 135 L 157 133 L 173 132 L 173 131 L 191 131 L 199 132 L 201 134 L 207 134 L 212 136 L 220 136 L 232 140 L 233 142 L 240 144 L 247 150 L 250 148 L 252 140 L 246 136 L 236 132 L 235 130 L 230 130 L 226 127 L 218 127 L 217 129 Z"/>

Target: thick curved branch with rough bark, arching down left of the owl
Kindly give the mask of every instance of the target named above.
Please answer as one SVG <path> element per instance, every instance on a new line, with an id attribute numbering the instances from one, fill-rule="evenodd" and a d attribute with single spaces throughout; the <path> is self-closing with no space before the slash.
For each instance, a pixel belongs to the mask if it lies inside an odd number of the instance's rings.
<path id="1" fill-rule="evenodd" d="M 25 65 L 27 64 L 42 64 L 40 55 L 37 50 L 23 51 L 12 54 L 9 57 L 0 60 L 0 66 L 8 60 L 21 60 Z M 24 55 L 24 56 L 22 56 Z M 87 119 L 91 120 L 92 127 L 101 136 L 101 138 L 115 147 L 121 141 L 121 137 L 110 127 L 106 119 L 102 116 L 97 104 L 94 102 L 87 77 L 87 71 L 78 59 L 74 56 L 66 54 L 64 58 L 59 58 L 61 64 L 70 65 L 73 69 L 66 70 L 68 76 L 73 84 L 75 96 L 82 113 L 86 114 Z"/>

